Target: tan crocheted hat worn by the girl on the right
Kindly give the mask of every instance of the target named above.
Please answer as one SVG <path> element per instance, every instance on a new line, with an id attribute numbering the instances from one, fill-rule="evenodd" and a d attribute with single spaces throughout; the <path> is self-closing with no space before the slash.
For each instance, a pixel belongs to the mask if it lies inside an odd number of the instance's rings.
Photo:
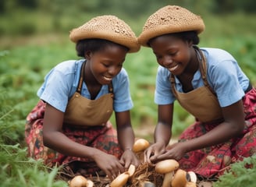
<path id="1" fill-rule="evenodd" d="M 195 30 L 197 34 L 204 31 L 204 21 L 201 17 L 180 6 L 167 5 L 149 16 L 138 41 L 141 45 L 149 47 L 148 41 L 153 37 L 190 30 Z"/>

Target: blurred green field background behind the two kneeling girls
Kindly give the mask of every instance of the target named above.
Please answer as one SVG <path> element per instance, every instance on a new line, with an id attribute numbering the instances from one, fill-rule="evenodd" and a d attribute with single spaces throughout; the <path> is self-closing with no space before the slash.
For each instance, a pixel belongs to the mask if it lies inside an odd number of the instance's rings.
<path id="1" fill-rule="evenodd" d="M 69 41 L 69 30 L 94 16 L 112 14 L 125 20 L 138 36 L 148 16 L 164 5 L 181 5 L 201 15 L 206 30 L 200 35 L 200 46 L 229 51 L 256 86 L 256 2 L 252 0 L 0 1 L 2 186 L 66 186 L 53 181 L 57 168 L 49 170 L 41 161 L 26 157 L 23 130 L 27 114 L 38 101 L 36 92 L 46 73 L 59 62 L 77 58 L 75 44 Z M 149 140 L 153 139 L 157 120 L 153 101 L 157 66 L 150 48 L 127 55 L 124 64 L 130 76 L 133 126 L 137 136 Z M 194 118 L 179 104 L 175 111 L 173 135 L 178 136 Z M 240 165 L 238 168 L 243 170 Z M 220 182 L 218 186 L 225 185 Z"/>

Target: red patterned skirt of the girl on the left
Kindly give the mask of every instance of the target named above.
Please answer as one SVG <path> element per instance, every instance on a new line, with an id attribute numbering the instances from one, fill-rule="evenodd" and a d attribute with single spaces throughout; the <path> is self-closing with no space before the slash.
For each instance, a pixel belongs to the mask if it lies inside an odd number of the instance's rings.
<path id="1" fill-rule="evenodd" d="M 86 168 L 87 175 L 95 175 L 100 171 L 96 163 L 88 158 L 71 157 L 58 153 L 55 150 L 44 146 L 43 143 L 43 122 L 44 122 L 45 104 L 39 101 L 34 109 L 27 115 L 25 125 L 25 139 L 28 146 L 28 156 L 34 159 L 43 159 L 49 167 L 57 165 L 69 166 L 71 163 Z M 72 127 L 63 127 L 62 132 L 76 143 L 84 146 L 91 146 L 105 153 L 112 154 L 120 158 L 123 151 L 121 150 L 116 129 L 110 122 L 105 126 L 90 127 L 87 129 L 77 129 Z"/>

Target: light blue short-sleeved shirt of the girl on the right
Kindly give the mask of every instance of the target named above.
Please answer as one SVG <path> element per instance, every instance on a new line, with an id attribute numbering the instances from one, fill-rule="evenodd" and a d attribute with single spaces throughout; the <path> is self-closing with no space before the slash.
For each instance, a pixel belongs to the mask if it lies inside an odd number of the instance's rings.
<path id="1" fill-rule="evenodd" d="M 221 107 L 234 104 L 244 97 L 249 79 L 240 69 L 236 59 L 227 51 L 218 48 L 201 48 L 207 62 L 207 79 L 215 91 Z M 172 94 L 169 76 L 171 72 L 162 66 L 158 67 L 155 86 L 155 103 L 172 104 L 176 98 Z M 194 89 L 204 86 L 199 70 L 192 80 Z M 176 79 L 176 89 L 183 92 L 179 79 Z"/>

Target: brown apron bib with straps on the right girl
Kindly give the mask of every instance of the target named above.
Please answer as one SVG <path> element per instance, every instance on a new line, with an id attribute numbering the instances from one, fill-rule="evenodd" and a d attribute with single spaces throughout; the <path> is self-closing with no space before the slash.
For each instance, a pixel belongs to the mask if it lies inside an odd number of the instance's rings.
<path id="1" fill-rule="evenodd" d="M 175 95 L 180 105 L 186 109 L 191 115 L 194 115 L 200 122 L 216 122 L 222 121 L 222 109 L 219 101 L 209 86 L 206 78 L 206 60 L 204 54 L 200 49 L 195 49 L 197 52 L 197 59 L 199 62 L 199 69 L 201 72 L 204 86 L 194 89 L 188 93 L 180 93 L 176 90 L 175 77 L 172 75 L 170 81 L 172 83 L 172 93 Z"/>

